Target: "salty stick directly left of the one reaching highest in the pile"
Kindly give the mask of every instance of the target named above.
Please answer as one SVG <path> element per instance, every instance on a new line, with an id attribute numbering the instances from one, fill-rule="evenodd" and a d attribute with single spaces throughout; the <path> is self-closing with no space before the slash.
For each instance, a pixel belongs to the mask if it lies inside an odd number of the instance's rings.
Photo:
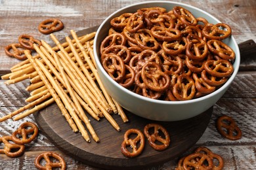
<path id="1" fill-rule="evenodd" d="M 76 37 L 77 38 L 77 37 Z M 72 44 L 71 39 L 69 37 L 66 37 L 66 41 L 68 42 L 68 44 L 70 45 L 70 48 L 72 50 L 72 52 L 74 52 L 74 56 L 76 58 L 77 63 L 79 64 L 81 70 L 83 71 L 83 73 L 85 74 L 87 80 L 89 81 L 88 83 L 91 84 L 92 88 L 94 89 L 94 92 L 96 92 L 96 96 L 100 97 L 100 103 L 102 104 L 102 106 L 104 106 L 104 108 L 108 111 L 108 112 L 112 112 L 111 108 L 109 107 L 105 97 L 102 95 L 102 93 L 100 92 L 100 90 L 98 89 L 98 86 L 96 85 L 95 81 L 93 80 L 93 78 L 91 77 L 91 74 L 89 73 L 89 71 L 86 69 L 85 65 L 83 64 L 83 61 L 81 60 L 81 58 L 78 56 L 77 53 L 75 53 L 75 46 L 74 44 Z M 76 41 L 78 42 L 77 45 L 81 45 L 79 43 L 79 40 L 76 39 Z M 82 45 L 81 45 L 82 46 Z M 81 75 L 80 75 L 81 76 Z M 81 78 L 83 78 L 83 76 L 81 76 Z M 90 89 L 91 90 L 91 89 Z"/>

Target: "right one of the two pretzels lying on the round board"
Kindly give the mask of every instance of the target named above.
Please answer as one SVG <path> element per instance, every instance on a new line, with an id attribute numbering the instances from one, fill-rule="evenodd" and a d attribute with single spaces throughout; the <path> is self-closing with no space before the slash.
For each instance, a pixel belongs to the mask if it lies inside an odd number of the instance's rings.
<path id="1" fill-rule="evenodd" d="M 150 128 L 154 128 L 153 133 L 150 133 Z M 164 134 L 164 137 L 161 137 L 160 131 Z M 148 143 L 150 146 L 152 146 L 152 148 L 155 150 L 165 150 L 171 141 L 167 129 L 160 124 L 147 124 L 144 127 L 144 134 L 148 138 Z M 161 144 L 158 144 L 157 141 Z"/>

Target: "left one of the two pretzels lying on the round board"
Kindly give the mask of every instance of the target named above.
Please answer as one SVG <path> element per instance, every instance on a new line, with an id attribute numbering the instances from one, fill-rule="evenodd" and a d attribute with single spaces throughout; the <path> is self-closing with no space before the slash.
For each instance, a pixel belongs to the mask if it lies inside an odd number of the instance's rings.
<path id="1" fill-rule="evenodd" d="M 131 138 L 131 135 L 137 135 L 135 138 Z M 144 135 L 139 129 L 129 129 L 125 132 L 123 143 L 121 144 L 121 152 L 128 158 L 139 156 L 144 149 Z M 138 147 L 139 145 L 139 147 Z M 130 152 L 127 146 L 131 146 L 132 151 Z"/>

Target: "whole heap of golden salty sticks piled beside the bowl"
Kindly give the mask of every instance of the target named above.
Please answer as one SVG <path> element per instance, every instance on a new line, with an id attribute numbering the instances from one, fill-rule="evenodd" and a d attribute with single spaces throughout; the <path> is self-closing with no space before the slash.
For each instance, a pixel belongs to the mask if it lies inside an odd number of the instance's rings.
<path id="1" fill-rule="evenodd" d="M 56 103 L 74 132 L 80 132 L 85 141 L 100 139 L 90 123 L 89 116 L 99 121 L 106 118 L 117 130 L 120 127 L 112 118 L 112 112 L 118 113 L 123 122 L 128 122 L 123 109 L 108 95 L 96 71 L 93 54 L 95 32 L 78 37 L 71 30 L 66 42 L 60 42 L 51 34 L 56 46 L 51 47 L 45 41 L 42 45 L 33 44 L 35 55 L 25 51 L 28 59 L 11 68 L 11 73 L 1 76 L 5 84 L 14 84 L 29 79 L 26 88 L 30 97 L 28 105 L 0 118 L 0 122 L 12 118 L 20 120 L 52 103 Z M 85 126 L 83 126 L 83 124 Z M 89 131 L 89 133 L 87 132 Z"/>

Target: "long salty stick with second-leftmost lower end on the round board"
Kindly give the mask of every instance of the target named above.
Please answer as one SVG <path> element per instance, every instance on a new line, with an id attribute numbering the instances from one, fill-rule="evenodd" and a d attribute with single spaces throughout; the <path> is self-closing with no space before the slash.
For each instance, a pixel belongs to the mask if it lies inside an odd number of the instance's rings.
<path id="1" fill-rule="evenodd" d="M 66 108 L 68 109 L 68 112 L 70 112 L 70 115 L 72 116 L 73 120 L 75 121 L 75 124 L 77 125 L 77 127 L 78 127 L 80 133 L 82 134 L 83 138 L 85 139 L 85 141 L 90 142 L 90 137 L 89 137 L 87 131 L 85 130 L 85 127 L 83 127 L 83 124 L 81 124 L 81 120 L 79 120 L 79 118 L 77 117 L 77 114 L 75 114 L 74 109 L 72 109 L 72 106 L 68 102 L 68 99 L 66 99 L 66 97 L 60 90 L 60 87 L 56 84 L 53 76 L 45 68 L 45 65 L 43 65 L 38 59 L 35 59 L 35 63 L 37 63 L 37 65 L 39 66 L 41 71 L 43 71 L 45 78 L 47 78 L 47 80 L 52 84 L 53 89 L 56 90 L 56 92 L 58 93 L 58 97 L 60 97 L 60 99 L 62 100 L 62 102 L 64 103 Z M 44 78 L 41 78 L 41 79 L 45 80 Z M 45 84 L 47 84 L 47 82 L 45 82 Z"/>

